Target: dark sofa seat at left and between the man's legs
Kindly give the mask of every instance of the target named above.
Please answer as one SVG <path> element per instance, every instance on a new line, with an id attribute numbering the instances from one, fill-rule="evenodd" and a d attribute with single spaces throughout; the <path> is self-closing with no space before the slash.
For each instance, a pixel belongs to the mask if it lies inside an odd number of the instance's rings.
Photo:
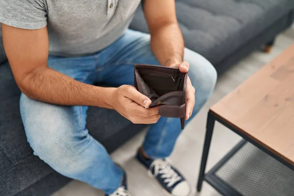
<path id="1" fill-rule="evenodd" d="M 33 155 L 27 143 L 19 111 L 20 94 L 6 62 L 0 66 L 0 196 L 14 195 L 53 172 L 46 163 Z M 118 143 L 130 138 L 126 133 L 132 133 L 128 129 L 130 125 L 130 121 L 114 110 L 89 108 L 89 132 L 102 144 L 106 143 L 108 150 L 115 149 Z M 119 141 L 117 138 L 112 140 L 113 135 L 117 136 L 119 132 L 123 132 Z"/>

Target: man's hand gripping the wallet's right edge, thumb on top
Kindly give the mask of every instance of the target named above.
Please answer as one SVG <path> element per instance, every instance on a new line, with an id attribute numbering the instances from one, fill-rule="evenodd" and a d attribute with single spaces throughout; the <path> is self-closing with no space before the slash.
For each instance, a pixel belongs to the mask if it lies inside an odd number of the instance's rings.
<path id="1" fill-rule="evenodd" d="M 174 61 L 170 60 L 167 62 L 167 67 L 174 67 L 179 68 L 180 72 L 187 73 L 190 68 L 190 64 L 186 61 L 183 61 L 182 63 L 172 63 Z M 192 86 L 191 80 L 188 76 L 187 78 L 187 105 L 186 105 L 186 120 L 189 119 L 189 117 L 192 115 L 193 108 L 195 105 L 195 88 Z"/>

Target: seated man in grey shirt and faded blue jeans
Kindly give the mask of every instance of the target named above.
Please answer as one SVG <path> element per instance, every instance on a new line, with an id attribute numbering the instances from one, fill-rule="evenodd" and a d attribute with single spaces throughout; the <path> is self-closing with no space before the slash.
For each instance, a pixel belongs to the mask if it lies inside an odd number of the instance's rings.
<path id="1" fill-rule="evenodd" d="M 181 132 L 179 120 L 160 118 L 156 107 L 146 109 L 151 101 L 132 86 L 133 66 L 189 70 L 188 121 L 211 95 L 216 71 L 184 49 L 173 0 L 142 2 L 151 36 L 128 30 L 139 3 L 0 0 L 4 49 L 22 91 L 22 120 L 35 155 L 108 196 L 131 196 L 123 169 L 86 129 L 87 106 L 114 109 L 133 123 L 151 124 L 137 159 L 168 194 L 187 196 L 188 182 L 165 159 Z M 93 85 L 100 82 L 120 87 Z"/>

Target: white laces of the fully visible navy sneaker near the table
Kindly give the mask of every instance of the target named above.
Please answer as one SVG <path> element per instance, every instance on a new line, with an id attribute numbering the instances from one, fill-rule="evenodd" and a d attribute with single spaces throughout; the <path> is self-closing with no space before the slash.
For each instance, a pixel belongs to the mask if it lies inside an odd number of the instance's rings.
<path id="1" fill-rule="evenodd" d="M 177 172 L 172 169 L 172 166 L 169 162 L 163 159 L 156 159 L 152 162 L 150 168 L 154 167 L 154 176 L 160 174 L 160 177 L 164 179 L 164 183 L 167 183 L 167 187 L 171 187 L 182 179 Z"/>

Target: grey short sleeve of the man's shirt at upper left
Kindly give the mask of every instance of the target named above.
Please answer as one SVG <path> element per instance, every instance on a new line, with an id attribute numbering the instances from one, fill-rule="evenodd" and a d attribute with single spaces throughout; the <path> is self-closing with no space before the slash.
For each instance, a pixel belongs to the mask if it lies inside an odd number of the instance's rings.
<path id="1" fill-rule="evenodd" d="M 23 29 L 47 25 L 44 0 L 0 0 L 0 23 Z"/>

